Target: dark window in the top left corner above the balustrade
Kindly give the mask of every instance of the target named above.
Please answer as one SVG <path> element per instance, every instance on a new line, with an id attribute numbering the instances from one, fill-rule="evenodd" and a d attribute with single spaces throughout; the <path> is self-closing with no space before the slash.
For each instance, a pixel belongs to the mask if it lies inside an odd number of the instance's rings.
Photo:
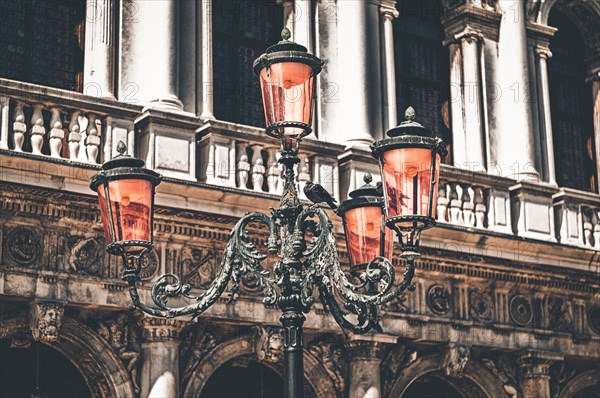
<path id="1" fill-rule="evenodd" d="M 85 0 L 1 1 L 0 77 L 83 89 Z"/>

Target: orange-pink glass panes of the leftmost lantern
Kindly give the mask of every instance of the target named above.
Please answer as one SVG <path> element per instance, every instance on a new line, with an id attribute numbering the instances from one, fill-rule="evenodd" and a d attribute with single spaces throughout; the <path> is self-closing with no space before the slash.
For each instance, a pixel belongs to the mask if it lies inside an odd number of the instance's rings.
<path id="1" fill-rule="evenodd" d="M 154 187 L 148 180 L 111 180 L 108 182 L 108 198 L 115 228 L 115 242 L 152 242 L 152 207 Z M 109 212 L 104 197 L 104 186 L 98 188 L 102 223 L 107 242 L 112 243 Z M 141 255 L 143 246 L 125 246 L 131 255 Z"/>

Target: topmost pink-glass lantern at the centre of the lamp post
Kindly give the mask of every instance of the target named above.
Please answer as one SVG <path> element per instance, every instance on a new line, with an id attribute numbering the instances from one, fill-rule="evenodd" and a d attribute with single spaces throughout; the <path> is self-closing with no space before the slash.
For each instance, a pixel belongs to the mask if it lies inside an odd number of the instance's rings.
<path id="1" fill-rule="evenodd" d="M 289 41 L 287 28 L 281 38 L 254 61 L 254 73 L 260 78 L 266 132 L 292 149 L 311 132 L 316 76 L 323 61 Z"/>

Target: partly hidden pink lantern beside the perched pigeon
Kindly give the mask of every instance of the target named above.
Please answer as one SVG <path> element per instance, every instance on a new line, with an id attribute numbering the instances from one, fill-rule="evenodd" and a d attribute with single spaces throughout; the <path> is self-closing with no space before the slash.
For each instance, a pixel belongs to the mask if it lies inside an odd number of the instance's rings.
<path id="1" fill-rule="evenodd" d="M 390 259 L 394 250 L 394 231 L 384 225 L 381 191 L 371 185 L 370 174 L 364 181 L 365 185 L 350 192 L 351 199 L 342 202 L 338 210 L 352 269 L 364 268 L 376 257 Z"/>

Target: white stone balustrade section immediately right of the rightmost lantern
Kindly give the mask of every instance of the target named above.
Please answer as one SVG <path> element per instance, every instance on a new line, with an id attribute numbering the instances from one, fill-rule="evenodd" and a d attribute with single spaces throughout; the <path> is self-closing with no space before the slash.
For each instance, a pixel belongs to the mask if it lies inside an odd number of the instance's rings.
<path id="1" fill-rule="evenodd" d="M 436 219 L 468 228 L 512 233 L 512 180 L 442 165 Z"/>

